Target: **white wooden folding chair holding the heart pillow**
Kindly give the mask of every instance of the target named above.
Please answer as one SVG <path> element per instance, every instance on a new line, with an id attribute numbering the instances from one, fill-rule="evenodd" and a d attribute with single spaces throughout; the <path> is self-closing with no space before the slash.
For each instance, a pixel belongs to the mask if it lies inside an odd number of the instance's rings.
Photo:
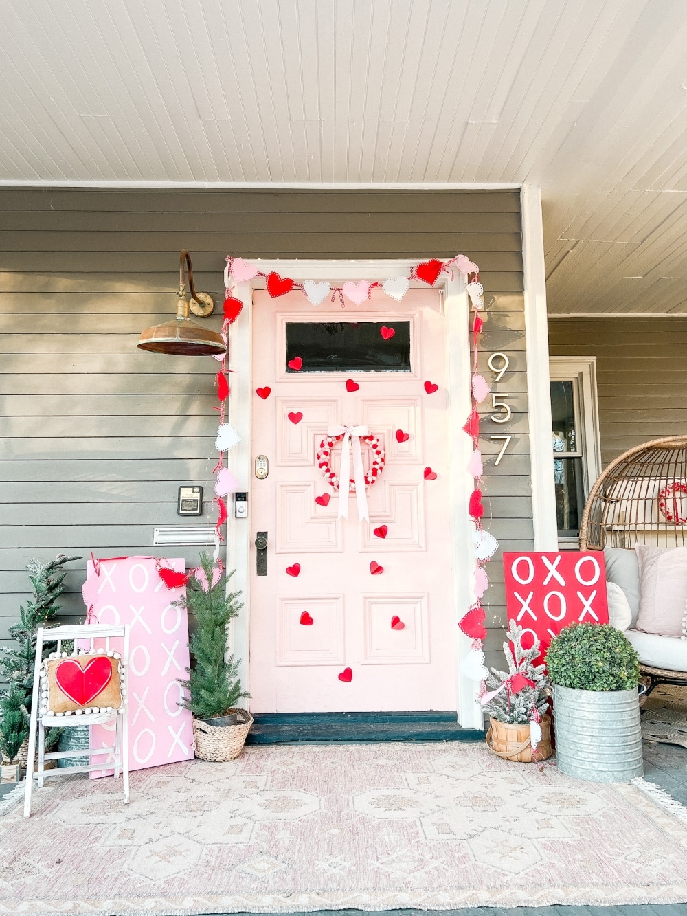
<path id="1" fill-rule="evenodd" d="M 123 648 L 111 647 L 111 639 L 121 639 Z M 101 710 L 100 712 L 88 714 L 44 714 L 42 712 L 43 703 L 41 701 L 41 667 L 43 664 L 43 645 L 46 642 L 57 642 L 55 656 L 59 657 L 62 653 L 62 642 L 65 639 L 73 639 L 74 648 L 71 656 L 76 656 L 80 649 L 83 649 L 84 641 L 90 645 L 88 651 L 107 653 L 116 650 L 123 662 L 124 679 L 122 684 L 122 703 L 119 709 L 113 709 L 111 712 Z M 104 649 L 95 648 L 95 640 L 104 639 Z M 66 657 L 66 656 L 65 656 Z M 123 776 L 124 801 L 129 801 L 129 722 L 128 722 L 128 699 L 126 695 L 126 685 L 128 678 L 128 660 L 129 660 L 129 625 L 121 627 L 109 627 L 103 624 L 85 624 L 74 627 L 49 627 L 44 629 L 38 627 L 36 638 L 36 663 L 33 675 L 33 694 L 31 697 L 31 716 L 28 731 L 28 762 L 27 762 L 27 782 L 24 794 L 24 817 L 31 816 L 31 792 L 33 791 L 34 780 L 38 782 L 38 789 L 43 788 L 43 780 L 47 776 L 64 776 L 67 773 L 90 773 L 95 769 L 114 768 L 114 778 L 118 779 L 120 770 Z M 70 728 L 74 725 L 104 725 L 114 721 L 114 747 L 92 747 L 79 748 L 79 750 L 54 751 L 46 754 L 45 752 L 45 729 L 50 726 L 60 728 Z M 38 769 L 34 771 L 36 759 L 36 736 L 38 734 Z M 59 760 L 65 757 L 86 757 L 92 758 L 94 754 L 112 754 L 114 761 L 111 763 L 89 763 L 83 767 L 62 767 L 60 769 L 45 769 L 46 760 Z"/>

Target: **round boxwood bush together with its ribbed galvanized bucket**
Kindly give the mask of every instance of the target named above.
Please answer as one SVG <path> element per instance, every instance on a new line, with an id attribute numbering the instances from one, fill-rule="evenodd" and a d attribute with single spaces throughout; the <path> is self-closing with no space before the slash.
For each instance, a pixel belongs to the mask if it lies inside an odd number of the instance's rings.
<path id="1" fill-rule="evenodd" d="M 609 624 L 571 624 L 551 640 L 556 762 L 578 780 L 628 782 L 644 773 L 639 658 Z"/>

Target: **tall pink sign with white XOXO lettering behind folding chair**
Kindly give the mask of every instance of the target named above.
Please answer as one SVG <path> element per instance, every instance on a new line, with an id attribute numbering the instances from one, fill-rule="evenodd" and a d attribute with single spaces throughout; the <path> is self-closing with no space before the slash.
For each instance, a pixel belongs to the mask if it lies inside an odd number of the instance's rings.
<path id="1" fill-rule="evenodd" d="M 89 561 L 83 600 L 90 622 L 129 624 L 129 767 L 143 769 L 193 758 L 191 713 L 179 702 L 186 695 L 179 679 L 189 667 L 186 611 L 172 606 L 185 588 L 168 588 L 158 563 L 184 572 L 182 559 L 117 557 Z M 91 726 L 91 747 L 111 747 L 113 725 Z M 93 763 L 108 762 L 93 757 Z M 95 770 L 99 777 L 112 770 Z"/>

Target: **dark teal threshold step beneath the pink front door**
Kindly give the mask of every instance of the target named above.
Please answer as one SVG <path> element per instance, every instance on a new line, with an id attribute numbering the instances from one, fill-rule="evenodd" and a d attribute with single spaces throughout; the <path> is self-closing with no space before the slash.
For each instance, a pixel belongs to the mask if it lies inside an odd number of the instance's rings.
<path id="1" fill-rule="evenodd" d="M 256 713 L 246 744 L 364 744 L 380 741 L 483 741 L 455 712 Z"/>

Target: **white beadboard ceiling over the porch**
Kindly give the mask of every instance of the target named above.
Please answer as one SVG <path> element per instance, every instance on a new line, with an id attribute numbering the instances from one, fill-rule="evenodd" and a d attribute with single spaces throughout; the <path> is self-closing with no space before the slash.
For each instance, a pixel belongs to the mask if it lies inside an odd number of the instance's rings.
<path id="1" fill-rule="evenodd" d="M 0 9 L 0 183 L 528 182 L 551 312 L 687 313 L 685 0 Z"/>

